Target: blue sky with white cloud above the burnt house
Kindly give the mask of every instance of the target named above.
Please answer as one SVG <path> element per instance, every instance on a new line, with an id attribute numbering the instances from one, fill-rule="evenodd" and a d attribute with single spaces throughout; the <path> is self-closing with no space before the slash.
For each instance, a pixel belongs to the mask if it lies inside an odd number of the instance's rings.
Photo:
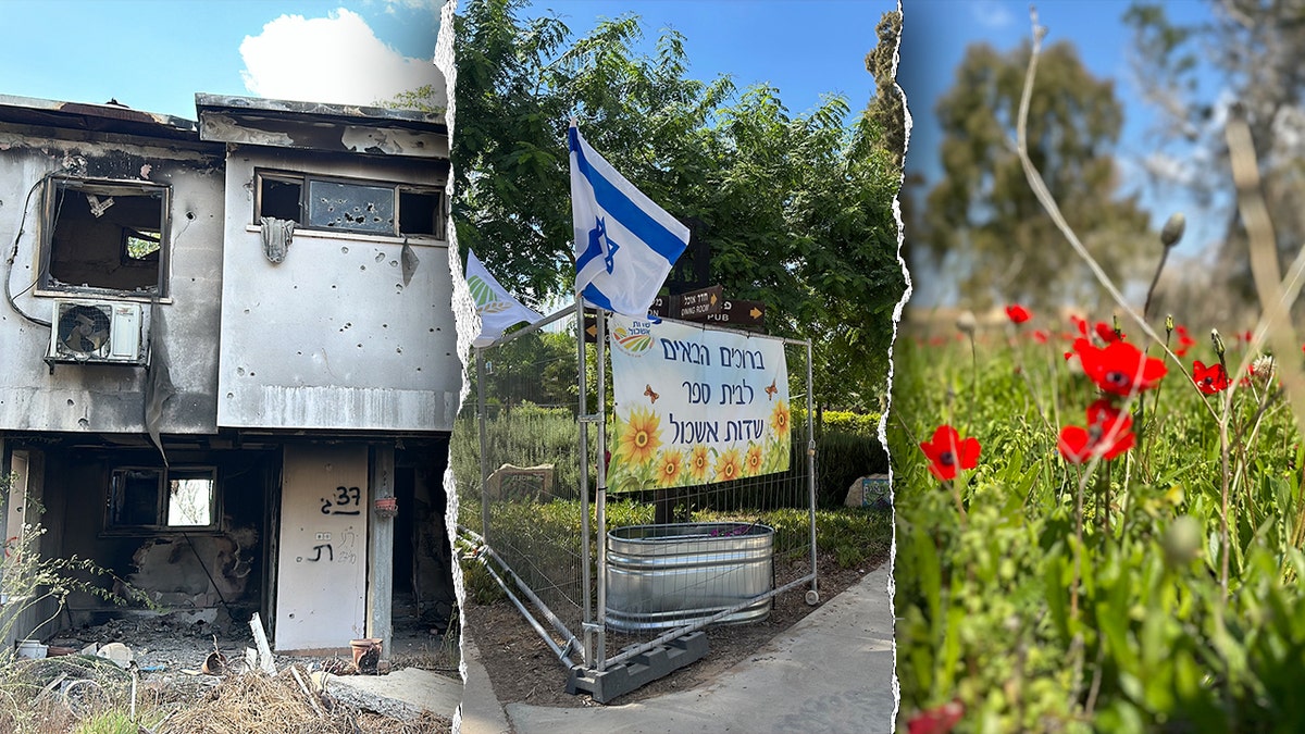
<path id="1" fill-rule="evenodd" d="M 431 0 L 5 0 L 4 10 L 0 94 L 115 98 L 188 119 L 194 93 L 256 95 L 249 84 L 290 99 L 389 98 L 429 77 L 438 27 Z"/>

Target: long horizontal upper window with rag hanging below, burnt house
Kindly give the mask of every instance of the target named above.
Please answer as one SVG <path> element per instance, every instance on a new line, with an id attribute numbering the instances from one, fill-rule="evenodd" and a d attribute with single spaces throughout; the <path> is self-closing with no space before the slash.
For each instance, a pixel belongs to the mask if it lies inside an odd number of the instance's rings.
<path id="1" fill-rule="evenodd" d="M 257 180 L 256 222 L 274 217 L 311 230 L 445 236 L 437 188 L 264 171 Z"/>

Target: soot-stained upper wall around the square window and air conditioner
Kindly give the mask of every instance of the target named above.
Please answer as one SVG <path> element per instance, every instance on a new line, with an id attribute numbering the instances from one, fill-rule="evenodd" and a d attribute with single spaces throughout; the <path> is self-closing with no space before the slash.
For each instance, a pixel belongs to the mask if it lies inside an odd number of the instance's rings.
<path id="1" fill-rule="evenodd" d="M 94 289 L 78 290 L 78 283 L 55 290 L 43 285 L 43 236 L 55 212 L 44 184 L 51 176 L 167 188 L 170 222 L 162 242 L 167 289 L 162 298 L 144 293 L 106 295 Z M 0 231 L 10 232 L 0 260 L 0 285 L 21 311 L 0 299 L 0 343 L 5 345 L 0 350 L 0 430 L 145 432 L 144 367 L 47 368 L 51 327 L 37 321 L 52 320 L 56 298 L 141 303 L 146 338 L 164 342 L 175 389 L 163 405 L 159 428 L 166 434 L 217 430 L 222 187 L 221 146 L 0 124 Z M 5 264 L 9 255 L 14 256 L 12 266 Z M 150 317 L 151 300 L 158 300 L 158 324 Z"/>

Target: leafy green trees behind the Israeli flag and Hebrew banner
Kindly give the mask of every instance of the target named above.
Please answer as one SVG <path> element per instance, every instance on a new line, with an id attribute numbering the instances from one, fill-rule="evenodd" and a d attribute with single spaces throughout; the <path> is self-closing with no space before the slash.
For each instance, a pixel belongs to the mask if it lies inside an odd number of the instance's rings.
<path id="1" fill-rule="evenodd" d="M 458 18 L 459 243 L 517 293 L 568 291 L 574 114 L 604 158 L 694 222 L 713 282 L 766 303 L 771 333 L 817 342 L 817 394 L 873 405 L 904 287 L 893 218 L 900 166 L 885 142 L 900 123 L 872 104 L 847 125 L 838 97 L 791 115 L 771 88 L 740 94 L 728 77 L 686 78 L 673 31 L 639 55 L 637 17 L 570 40 L 556 20 L 521 21 L 521 5 L 472 0 Z"/>

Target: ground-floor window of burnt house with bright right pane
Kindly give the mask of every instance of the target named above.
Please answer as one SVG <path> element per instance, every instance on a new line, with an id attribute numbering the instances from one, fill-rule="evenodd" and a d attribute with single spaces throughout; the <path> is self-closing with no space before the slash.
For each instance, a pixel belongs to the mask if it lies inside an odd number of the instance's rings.
<path id="1" fill-rule="evenodd" d="M 217 528 L 217 470 L 117 468 L 110 475 L 107 504 L 107 530 Z"/>

